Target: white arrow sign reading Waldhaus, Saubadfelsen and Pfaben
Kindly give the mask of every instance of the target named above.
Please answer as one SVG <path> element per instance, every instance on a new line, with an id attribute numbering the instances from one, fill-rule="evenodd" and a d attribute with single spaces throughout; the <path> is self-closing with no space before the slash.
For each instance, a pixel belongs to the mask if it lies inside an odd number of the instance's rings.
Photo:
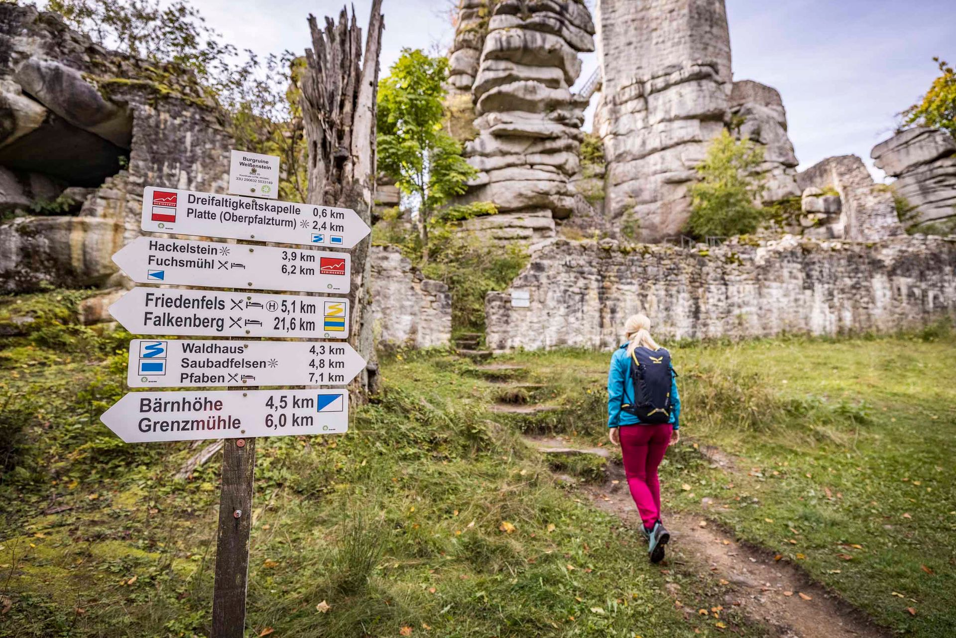
<path id="1" fill-rule="evenodd" d="M 365 360 L 344 342 L 134 339 L 130 387 L 346 385 Z"/>

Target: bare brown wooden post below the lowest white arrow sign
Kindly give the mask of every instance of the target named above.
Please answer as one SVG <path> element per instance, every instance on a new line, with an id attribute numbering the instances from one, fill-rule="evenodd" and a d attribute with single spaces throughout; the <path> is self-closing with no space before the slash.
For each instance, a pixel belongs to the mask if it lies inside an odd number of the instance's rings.
<path id="1" fill-rule="evenodd" d="M 255 439 L 228 439 L 223 446 L 212 638 L 242 638 L 245 630 L 254 470 Z"/>

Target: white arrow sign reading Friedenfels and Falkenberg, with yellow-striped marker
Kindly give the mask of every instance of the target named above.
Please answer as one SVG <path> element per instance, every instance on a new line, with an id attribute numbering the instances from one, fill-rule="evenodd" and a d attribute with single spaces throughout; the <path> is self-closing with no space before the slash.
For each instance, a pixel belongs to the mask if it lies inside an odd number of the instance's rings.
<path id="1" fill-rule="evenodd" d="M 134 288 L 110 306 L 134 335 L 346 339 L 349 302 L 341 297 Z"/>

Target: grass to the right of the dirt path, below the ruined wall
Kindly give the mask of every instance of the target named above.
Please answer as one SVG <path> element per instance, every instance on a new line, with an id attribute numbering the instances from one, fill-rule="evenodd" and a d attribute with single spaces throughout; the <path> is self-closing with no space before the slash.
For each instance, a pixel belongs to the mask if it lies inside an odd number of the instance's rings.
<path id="1" fill-rule="evenodd" d="M 684 445 L 735 455 L 731 473 L 671 454 L 665 500 L 800 565 L 880 624 L 956 624 L 956 340 L 783 339 L 671 348 Z M 527 353 L 567 413 L 530 429 L 606 435 L 604 354 Z M 597 399 L 595 398 L 597 397 Z M 706 512 L 702 499 L 712 501 Z"/>

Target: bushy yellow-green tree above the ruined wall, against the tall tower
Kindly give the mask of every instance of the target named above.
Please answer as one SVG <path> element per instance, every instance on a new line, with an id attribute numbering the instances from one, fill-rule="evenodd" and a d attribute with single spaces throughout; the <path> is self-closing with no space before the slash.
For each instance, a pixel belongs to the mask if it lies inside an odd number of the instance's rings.
<path id="1" fill-rule="evenodd" d="M 763 159 L 762 146 L 749 140 L 738 142 L 727 130 L 722 131 L 697 167 L 701 181 L 690 187 L 687 230 L 698 237 L 756 231 L 764 218 L 756 204 L 763 184 L 752 173 Z"/>

